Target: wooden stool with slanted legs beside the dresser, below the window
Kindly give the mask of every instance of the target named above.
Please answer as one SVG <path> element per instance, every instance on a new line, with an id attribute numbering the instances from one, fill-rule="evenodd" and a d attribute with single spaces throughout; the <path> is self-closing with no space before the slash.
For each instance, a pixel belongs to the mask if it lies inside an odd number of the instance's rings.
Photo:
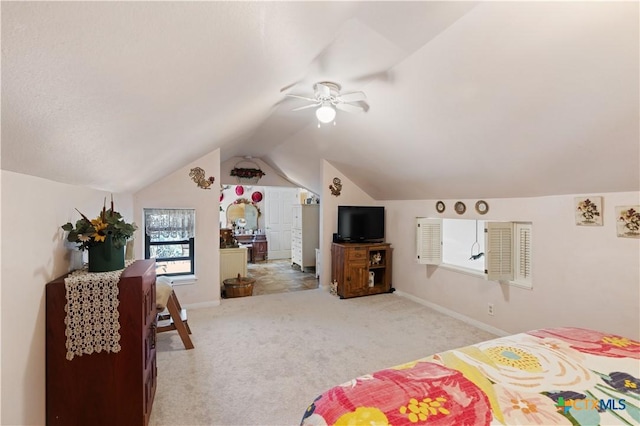
<path id="1" fill-rule="evenodd" d="M 193 349 L 193 343 L 189 337 L 191 329 L 187 323 L 187 310 L 180 306 L 171 284 L 160 278 L 156 280 L 156 307 L 158 309 L 156 331 L 162 333 L 177 330 L 185 349 Z"/>

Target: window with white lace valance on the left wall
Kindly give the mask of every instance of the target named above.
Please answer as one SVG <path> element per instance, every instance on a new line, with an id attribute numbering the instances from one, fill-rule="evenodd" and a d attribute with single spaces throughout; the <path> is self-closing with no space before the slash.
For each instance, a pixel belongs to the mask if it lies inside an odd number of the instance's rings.
<path id="1" fill-rule="evenodd" d="M 195 210 L 144 209 L 146 259 L 158 275 L 195 274 Z"/>

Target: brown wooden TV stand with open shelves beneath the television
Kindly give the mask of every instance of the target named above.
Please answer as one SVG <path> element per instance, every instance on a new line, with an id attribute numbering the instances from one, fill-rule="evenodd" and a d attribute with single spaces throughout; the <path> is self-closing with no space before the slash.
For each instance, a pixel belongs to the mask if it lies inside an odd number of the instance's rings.
<path id="1" fill-rule="evenodd" d="M 337 282 L 338 296 L 346 299 L 391 292 L 391 251 L 387 243 L 333 243 L 331 282 Z M 377 254 L 379 260 L 374 258 Z"/>

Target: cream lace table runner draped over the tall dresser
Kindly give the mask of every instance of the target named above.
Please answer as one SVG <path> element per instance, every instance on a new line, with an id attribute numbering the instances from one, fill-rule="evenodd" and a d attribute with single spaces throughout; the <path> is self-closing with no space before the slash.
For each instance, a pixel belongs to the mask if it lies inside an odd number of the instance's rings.
<path id="1" fill-rule="evenodd" d="M 125 262 L 125 268 L 133 263 Z M 124 269 L 110 272 L 74 271 L 64 280 L 67 304 L 67 359 L 94 352 L 120 352 L 118 281 Z"/>

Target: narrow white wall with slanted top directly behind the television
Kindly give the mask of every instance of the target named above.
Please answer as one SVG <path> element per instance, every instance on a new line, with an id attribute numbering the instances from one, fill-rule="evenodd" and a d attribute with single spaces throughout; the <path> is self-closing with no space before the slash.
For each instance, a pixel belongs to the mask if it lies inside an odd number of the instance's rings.
<path id="1" fill-rule="evenodd" d="M 328 161 L 322 160 L 322 194 L 320 196 L 320 285 L 331 284 L 331 243 L 333 233 L 338 231 L 338 206 L 376 206 L 379 202 L 371 198 Z M 331 195 L 329 186 L 333 178 L 342 181 L 339 196 Z"/>

